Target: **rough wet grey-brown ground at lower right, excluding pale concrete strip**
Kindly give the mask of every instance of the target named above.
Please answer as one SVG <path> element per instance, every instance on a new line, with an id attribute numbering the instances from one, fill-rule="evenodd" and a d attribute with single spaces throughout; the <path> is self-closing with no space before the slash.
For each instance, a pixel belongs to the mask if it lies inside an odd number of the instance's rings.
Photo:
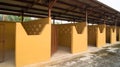
<path id="1" fill-rule="evenodd" d="M 47 67 L 120 67 L 120 44 Z"/>

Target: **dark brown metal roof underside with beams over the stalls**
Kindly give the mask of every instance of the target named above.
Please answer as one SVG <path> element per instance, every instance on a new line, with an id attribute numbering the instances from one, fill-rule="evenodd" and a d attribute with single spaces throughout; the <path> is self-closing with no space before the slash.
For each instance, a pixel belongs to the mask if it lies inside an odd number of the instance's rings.
<path id="1" fill-rule="evenodd" d="M 48 4 L 52 0 L 0 0 L 0 13 L 32 17 L 47 17 Z M 52 8 L 52 18 L 68 21 L 85 21 L 88 11 L 89 23 L 119 25 L 120 12 L 97 0 L 57 0 Z"/>

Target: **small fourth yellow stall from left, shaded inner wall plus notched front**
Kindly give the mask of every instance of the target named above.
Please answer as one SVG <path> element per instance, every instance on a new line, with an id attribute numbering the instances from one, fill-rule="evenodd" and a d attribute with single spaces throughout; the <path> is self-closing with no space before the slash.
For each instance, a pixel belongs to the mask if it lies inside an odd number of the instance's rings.
<path id="1" fill-rule="evenodd" d="M 107 36 L 107 42 L 114 44 L 116 42 L 116 27 L 107 26 L 106 36 Z"/>

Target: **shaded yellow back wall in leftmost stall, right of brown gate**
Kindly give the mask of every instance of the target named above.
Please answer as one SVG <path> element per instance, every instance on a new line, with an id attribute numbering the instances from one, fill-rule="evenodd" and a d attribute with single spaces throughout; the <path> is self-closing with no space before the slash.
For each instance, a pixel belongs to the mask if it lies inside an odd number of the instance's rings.
<path id="1" fill-rule="evenodd" d="M 15 22 L 0 21 L 4 25 L 5 50 L 10 51 L 15 49 Z"/>

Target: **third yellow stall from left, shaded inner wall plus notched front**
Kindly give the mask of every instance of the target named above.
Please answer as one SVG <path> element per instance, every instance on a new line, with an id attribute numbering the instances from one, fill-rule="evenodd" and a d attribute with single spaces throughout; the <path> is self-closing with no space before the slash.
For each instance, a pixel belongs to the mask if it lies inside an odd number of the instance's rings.
<path id="1" fill-rule="evenodd" d="M 106 44 L 106 25 L 89 25 L 88 26 L 88 44 L 98 48 Z"/>

